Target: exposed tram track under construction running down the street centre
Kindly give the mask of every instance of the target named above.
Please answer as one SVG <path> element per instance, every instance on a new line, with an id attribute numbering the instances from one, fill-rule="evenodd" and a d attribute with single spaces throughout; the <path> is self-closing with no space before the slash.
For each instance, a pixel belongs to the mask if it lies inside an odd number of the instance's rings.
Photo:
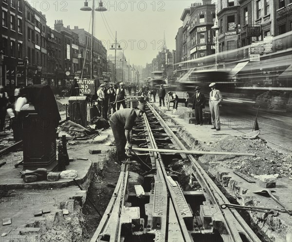
<path id="1" fill-rule="evenodd" d="M 129 107 L 137 104 L 137 100 L 128 102 Z M 187 150 L 149 103 L 146 113 L 133 127 L 132 144 L 140 148 Z M 260 241 L 235 209 L 220 207 L 229 201 L 194 156 L 134 154 L 132 159 L 145 169 L 142 178 L 134 179 L 131 165 L 122 165 L 110 203 L 91 242 Z M 178 160 L 199 182 L 199 189 L 182 189 L 180 175 L 168 168 Z M 135 185 L 143 187 L 145 196 L 136 196 Z"/>

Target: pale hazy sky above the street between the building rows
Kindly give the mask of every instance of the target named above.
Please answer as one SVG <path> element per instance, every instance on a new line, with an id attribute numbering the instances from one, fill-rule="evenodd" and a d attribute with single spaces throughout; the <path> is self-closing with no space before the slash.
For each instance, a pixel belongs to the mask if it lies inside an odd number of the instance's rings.
<path id="1" fill-rule="evenodd" d="M 91 33 L 91 12 L 80 11 L 85 0 L 29 0 L 32 6 L 46 15 L 47 25 L 54 28 L 55 20 L 62 19 L 65 27 L 84 28 Z M 104 0 L 106 12 L 95 11 L 95 36 L 103 40 L 108 54 L 117 40 L 124 48 L 130 63 L 145 66 L 150 63 L 163 45 L 175 50 L 175 36 L 183 25 L 180 20 L 183 9 L 200 0 Z M 95 6 L 97 6 L 95 0 Z M 92 0 L 89 1 L 92 6 Z"/>

